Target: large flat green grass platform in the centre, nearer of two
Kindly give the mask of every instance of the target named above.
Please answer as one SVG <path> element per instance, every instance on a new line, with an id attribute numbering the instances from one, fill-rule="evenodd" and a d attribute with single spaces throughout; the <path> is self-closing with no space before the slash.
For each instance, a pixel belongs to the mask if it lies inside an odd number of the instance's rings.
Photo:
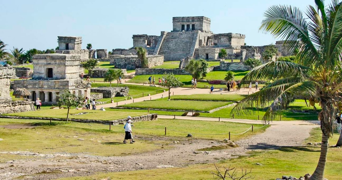
<path id="1" fill-rule="evenodd" d="M 209 111 L 211 109 L 222 107 L 228 104 L 232 103 L 215 101 L 167 100 L 167 98 L 163 98 L 158 100 L 149 100 L 120 105 L 118 107 Z"/>

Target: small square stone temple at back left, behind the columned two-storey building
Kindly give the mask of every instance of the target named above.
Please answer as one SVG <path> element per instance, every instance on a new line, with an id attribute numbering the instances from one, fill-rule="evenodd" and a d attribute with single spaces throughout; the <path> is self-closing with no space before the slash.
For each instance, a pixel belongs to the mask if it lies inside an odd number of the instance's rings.
<path id="1" fill-rule="evenodd" d="M 82 37 L 58 36 L 56 53 L 79 56 L 81 61 L 95 59 L 96 50 L 82 49 Z"/>

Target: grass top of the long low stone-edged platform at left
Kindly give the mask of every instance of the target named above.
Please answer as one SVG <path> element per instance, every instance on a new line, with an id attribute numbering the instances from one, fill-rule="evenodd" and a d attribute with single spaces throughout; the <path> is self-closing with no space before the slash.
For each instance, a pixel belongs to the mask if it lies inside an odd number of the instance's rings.
<path id="1" fill-rule="evenodd" d="M 60 118 L 66 119 L 68 109 L 41 109 L 40 111 L 26 111 L 16 112 L 11 114 L 3 114 L 5 116 L 19 116 L 19 117 L 38 117 L 38 118 Z M 80 112 L 88 112 L 83 115 L 74 115 Z M 69 118 L 71 119 L 93 119 L 102 121 L 111 121 L 117 119 L 127 118 L 127 116 L 135 117 L 146 115 L 147 112 L 127 112 L 124 110 L 118 111 L 99 111 L 99 110 L 77 110 L 70 109 Z"/>

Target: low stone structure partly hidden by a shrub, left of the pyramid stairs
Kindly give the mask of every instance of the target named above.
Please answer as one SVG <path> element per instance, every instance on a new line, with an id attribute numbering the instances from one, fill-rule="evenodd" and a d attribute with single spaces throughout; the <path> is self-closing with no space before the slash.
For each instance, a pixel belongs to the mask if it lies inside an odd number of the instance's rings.
<path id="1" fill-rule="evenodd" d="M 162 65 L 164 63 L 164 56 L 161 55 L 147 55 L 148 68 Z M 137 56 L 116 56 L 110 55 L 110 64 L 118 69 L 134 70 L 141 68 L 141 61 Z"/>

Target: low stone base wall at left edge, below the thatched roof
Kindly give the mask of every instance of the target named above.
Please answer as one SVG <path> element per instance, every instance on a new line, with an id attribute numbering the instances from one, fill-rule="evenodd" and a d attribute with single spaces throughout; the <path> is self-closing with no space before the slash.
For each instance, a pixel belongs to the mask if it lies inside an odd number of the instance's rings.
<path id="1" fill-rule="evenodd" d="M 33 105 L 33 101 L 11 101 L 4 104 L 0 104 L 0 114 L 34 110 L 35 107 Z"/>

